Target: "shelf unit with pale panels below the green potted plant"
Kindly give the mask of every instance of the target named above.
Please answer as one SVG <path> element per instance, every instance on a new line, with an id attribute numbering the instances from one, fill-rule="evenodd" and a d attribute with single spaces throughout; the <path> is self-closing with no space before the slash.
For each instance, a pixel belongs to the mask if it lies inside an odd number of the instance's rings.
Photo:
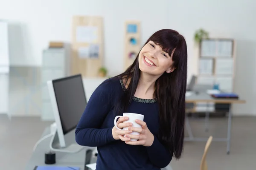
<path id="1" fill-rule="evenodd" d="M 235 41 L 225 38 L 203 39 L 199 49 L 197 84 L 217 83 L 221 91 L 233 92 Z"/>

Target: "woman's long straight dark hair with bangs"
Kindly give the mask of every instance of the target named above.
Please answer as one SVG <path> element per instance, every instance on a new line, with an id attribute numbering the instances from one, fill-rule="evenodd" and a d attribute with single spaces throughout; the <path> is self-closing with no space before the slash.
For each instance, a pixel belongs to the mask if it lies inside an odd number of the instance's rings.
<path id="1" fill-rule="evenodd" d="M 159 140 L 180 159 L 183 151 L 184 124 L 185 124 L 185 93 L 187 79 L 187 46 L 182 35 L 171 29 L 162 29 L 149 37 L 149 41 L 160 45 L 163 50 L 172 56 L 173 66 L 176 68 L 172 73 L 163 73 L 155 83 L 154 95 L 159 104 Z M 145 45 L 144 44 L 144 45 Z M 174 50 L 174 52 L 173 52 Z M 173 52 L 173 54 L 172 54 Z M 122 74 L 129 85 L 126 93 L 116 105 L 116 113 L 123 113 L 133 100 L 140 79 L 140 68 L 137 55 L 132 65 Z"/>

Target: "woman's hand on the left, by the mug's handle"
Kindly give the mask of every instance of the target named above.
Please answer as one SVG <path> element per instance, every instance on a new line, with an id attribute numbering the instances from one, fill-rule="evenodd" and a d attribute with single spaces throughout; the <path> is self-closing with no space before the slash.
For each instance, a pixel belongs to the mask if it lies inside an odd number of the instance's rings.
<path id="1" fill-rule="evenodd" d="M 128 120 L 128 117 L 120 117 L 118 121 L 116 122 L 117 127 L 122 129 L 123 127 L 131 127 L 132 123 L 123 123 L 124 121 Z M 125 134 L 130 134 L 132 133 L 132 130 L 119 130 L 115 126 L 112 128 L 112 136 L 114 139 L 119 140 L 121 139 L 122 141 L 130 141 L 130 138 L 125 138 Z"/>

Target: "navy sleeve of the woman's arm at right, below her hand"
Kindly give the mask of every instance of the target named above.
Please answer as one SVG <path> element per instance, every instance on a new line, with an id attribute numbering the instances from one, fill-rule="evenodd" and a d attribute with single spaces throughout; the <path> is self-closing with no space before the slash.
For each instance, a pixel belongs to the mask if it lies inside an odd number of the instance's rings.
<path id="1" fill-rule="evenodd" d="M 159 168 L 168 166 L 172 160 L 172 153 L 161 144 L 155 135 L 153 144 L 147 147 L 147 150 L 151 163 Z"/>

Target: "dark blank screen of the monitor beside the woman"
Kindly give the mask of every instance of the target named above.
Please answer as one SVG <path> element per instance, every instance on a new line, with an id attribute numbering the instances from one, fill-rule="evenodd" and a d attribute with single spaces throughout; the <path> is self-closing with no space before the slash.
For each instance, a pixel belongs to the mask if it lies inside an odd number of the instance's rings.
<path id="1" fill-rule="evenodd" d="M 63 134 L 76 128 L 87 105 L 81 75 L 52 80 Z"/>

